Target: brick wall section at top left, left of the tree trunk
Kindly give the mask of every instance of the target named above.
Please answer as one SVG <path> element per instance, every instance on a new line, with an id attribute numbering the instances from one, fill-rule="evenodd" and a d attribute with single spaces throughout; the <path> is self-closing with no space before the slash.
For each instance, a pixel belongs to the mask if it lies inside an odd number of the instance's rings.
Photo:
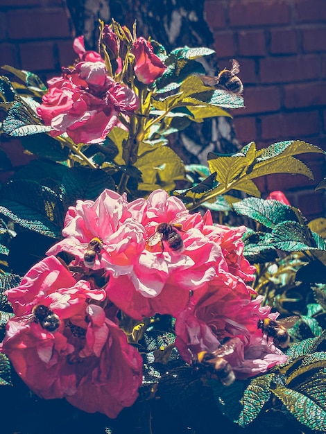
<path id="1" fill-rule="evenodd" d="M 0 0 L 0 64 L 41 78 L 76 58 L 72 29 L 61 0 Z"/>

